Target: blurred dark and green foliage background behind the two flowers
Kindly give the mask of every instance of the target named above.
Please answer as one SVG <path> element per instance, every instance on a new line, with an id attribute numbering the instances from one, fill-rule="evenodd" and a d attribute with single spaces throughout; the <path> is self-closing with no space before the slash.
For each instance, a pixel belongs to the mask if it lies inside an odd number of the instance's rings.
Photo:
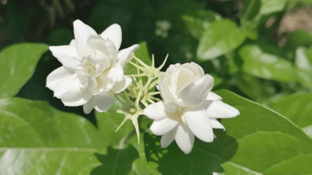
<path id="1" fill-rule="evenodd" d="M 214 90 L 229 89 L 264 105 L 312 90 L 311 0 L 1 0 L 0 48 L 18 42 L 66 45 L 72 22 L 97 32 L 122 27 L 121 48 L 146 41 L 160 65 L 197 62 L 215 78 Z M 43 55 L 17 96 L 64 108 L 45 88 L 61 64 Z M 165 66 L 165 68 L 168 66 Z M 86 116 L 94 122 L 94 114 Z"/>

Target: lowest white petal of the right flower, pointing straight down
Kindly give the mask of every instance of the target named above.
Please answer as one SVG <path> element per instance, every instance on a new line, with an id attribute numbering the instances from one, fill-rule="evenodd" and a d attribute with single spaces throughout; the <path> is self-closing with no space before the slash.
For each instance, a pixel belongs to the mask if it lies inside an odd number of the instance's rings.
<path id="1" fill-rule="evenodd" d="M 194 134 L 187 125 L 179 125 L 175 134 L 175 141 L 178 147 L 185 153 L 189 154 L 194 145 Z"/>

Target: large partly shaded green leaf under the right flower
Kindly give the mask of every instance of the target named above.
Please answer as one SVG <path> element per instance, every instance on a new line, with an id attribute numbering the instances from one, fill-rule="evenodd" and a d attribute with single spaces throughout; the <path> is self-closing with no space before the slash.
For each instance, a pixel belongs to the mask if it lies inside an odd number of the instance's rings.
<path id="1" fill-rule="evenodd" d="M 216 92 L 240 115 L 223 119 L 226 131 L 214 130 L 212 143 L 195 140 L 185 155 L 175 143 L 160 148 L 160 137 L 144 135 L 148 160 L 170 175 L 300 175 L 311 174 L 312 140 L 284 116 L 232 92 Z M 299 165 L 300 164 L 300 165 Z M 300 169 L 298 169 L 300 166 Z"/>

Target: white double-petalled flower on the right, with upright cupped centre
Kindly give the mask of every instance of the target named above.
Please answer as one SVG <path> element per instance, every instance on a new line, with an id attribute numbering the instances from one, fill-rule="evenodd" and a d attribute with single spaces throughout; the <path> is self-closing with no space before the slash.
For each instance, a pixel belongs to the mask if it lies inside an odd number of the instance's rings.
<path id="1" fill-rule="evenodd" d="M 144 109 L 154 119 L 150 130 L 162 135 L 161 146 L 167 147 L 176 141 L 179 148 L 188 154 L 194 144 L 194 135 L 212 142 L 212 128 L 225 129 L 217 118 L 231 118 L 239 111 L 226 104 L 217 94 L 210 92 L 214 84 L 211 75 L 204 73 L 196 63 L 170 65 L 158 83 L 163 102 Z"/>

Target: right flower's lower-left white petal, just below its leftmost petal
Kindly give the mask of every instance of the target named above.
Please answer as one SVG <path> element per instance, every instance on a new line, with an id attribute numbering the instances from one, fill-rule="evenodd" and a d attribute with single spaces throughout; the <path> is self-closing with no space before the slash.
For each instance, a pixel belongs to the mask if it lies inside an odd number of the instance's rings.
<path id="1" fill-rule="evenodd" d="M 164 135 L 171 131 L 178 123 L 178 121 L 166 117 L 162 120 L 155 120 L 149 129 L 155 135 Z"/>

